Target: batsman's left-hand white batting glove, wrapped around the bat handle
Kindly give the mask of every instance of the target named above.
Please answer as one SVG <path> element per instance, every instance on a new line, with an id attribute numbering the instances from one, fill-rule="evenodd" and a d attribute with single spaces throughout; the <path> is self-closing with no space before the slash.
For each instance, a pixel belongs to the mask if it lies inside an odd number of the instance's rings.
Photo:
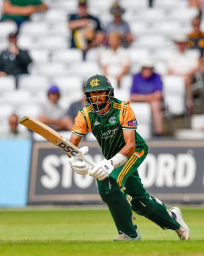
<path id="1" fill-rule="evenodd" d="M 83 155 L 87 154 L 89 152 L 88 147 L 83 147 L 79 149 Z M 83 160 L 77 159 L 77 158 L 68 158 L 68 162 L 70 163 L 70 166 L 72 167 L 72 170 L 80 175 L 85 175 L 89 173 L 89 170 L 91 167 L 87 162 L 84 162 Z"/>

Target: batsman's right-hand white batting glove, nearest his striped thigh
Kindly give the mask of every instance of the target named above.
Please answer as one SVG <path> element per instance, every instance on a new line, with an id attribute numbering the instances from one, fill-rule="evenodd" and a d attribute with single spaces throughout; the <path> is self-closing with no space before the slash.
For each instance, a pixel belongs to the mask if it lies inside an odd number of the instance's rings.
<path id="1" fill-rule="evenodd" d="M 109 174 L 113 171 L 114 166 L 109 160 L 104 159 L 94 166 L 94 168 L 89 172 L 89 175 L 103 181 L 105 178 L 109 177 Z"/>

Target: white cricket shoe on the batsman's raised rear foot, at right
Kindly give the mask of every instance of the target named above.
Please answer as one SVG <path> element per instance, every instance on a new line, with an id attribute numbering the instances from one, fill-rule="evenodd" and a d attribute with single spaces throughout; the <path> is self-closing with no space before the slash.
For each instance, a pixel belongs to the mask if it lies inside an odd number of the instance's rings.
<path id="1" fill-rule="evenodd" d="M 181 210 L 178 207 L 172 207 L 170 209 L 170 212 L 175 214 L 176 222 L 178 222 L 181 225 L 181 228 L 178 228 L 178 230 L 176 230 L 176 234 L 178 234 L 178 237 L 181 240 L 189 240 L 190 239 L 189 227 L 187 226 L 187 224 L 185 224 L 182 218 Z"/>

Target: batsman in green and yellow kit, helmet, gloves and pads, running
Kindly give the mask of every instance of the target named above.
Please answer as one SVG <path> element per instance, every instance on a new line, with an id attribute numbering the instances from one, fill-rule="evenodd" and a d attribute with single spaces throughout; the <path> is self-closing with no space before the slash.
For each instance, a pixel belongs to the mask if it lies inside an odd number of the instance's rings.
<path id="1" fill-rule="evenodd" d="M 104 75 L 87 80 L 85 96 L 87 105 L 79 110 L 70 142 L 78 146 L 91 131 L 101 146 L 104 160 L 93 168 L 76 158 L 70 158 L 69 162 L 77 174 L 97 179 L 99 195 L 109 207 L 118 231 L 114 241 L 141 239 L 132 221 L 132 211 L 163 229 L 175 230 L 181 240 L 189 240 L 189 228 L 181 210 L 178 207 L 168 210 L 142 185 L 138 167 L 148 154 L 148 146 L 136 131 L 138 123 L 130 103 L 114 98 L 114 89 Z M 87 153 L 85 148 L 81 149 L 83 154 Z"/>

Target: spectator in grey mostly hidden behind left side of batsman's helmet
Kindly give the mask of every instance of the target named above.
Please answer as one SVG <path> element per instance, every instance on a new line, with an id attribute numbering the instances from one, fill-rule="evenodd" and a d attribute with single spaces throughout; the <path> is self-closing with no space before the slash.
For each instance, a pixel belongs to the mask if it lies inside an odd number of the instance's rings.
<path id="1" fill-rule="evenodd" d="M 83 86 L 83 91 L 84 91 L 84 88 L 85 87 Z M 72 104 L 70 104 L 68 110 L 65 113 L 65 119 L 64 119 L 66 129 L 68 129 L 68 131 L 72 131 L 72 127 L 74 125 L 75 117 L 77 117 L 77 113 L 86 104 L 87 104 L 87 102 L 86 102 L 84 93 L 83 93 L 83 97 L 81 98 L 81 100 L 72 102 Z"/>

